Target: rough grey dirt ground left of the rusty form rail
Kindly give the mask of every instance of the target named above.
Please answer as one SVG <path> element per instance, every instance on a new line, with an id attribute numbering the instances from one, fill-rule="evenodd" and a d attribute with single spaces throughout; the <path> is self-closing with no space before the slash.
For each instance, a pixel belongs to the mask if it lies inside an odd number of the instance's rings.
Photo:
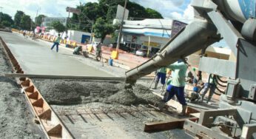
<path id="1" fill-rule="evenodd" d="M 44 138 L 16 81 L 2 75 L 10 72 L 0 44 L 0 138 Z"/>

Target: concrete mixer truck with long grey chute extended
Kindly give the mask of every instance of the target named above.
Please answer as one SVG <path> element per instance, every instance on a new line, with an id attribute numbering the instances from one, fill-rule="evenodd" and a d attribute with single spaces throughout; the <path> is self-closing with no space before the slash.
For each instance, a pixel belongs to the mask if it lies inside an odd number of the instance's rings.
<path id="1" fill-rule="evenodd" d="M 126 72 L 126 82 L 166 67 L 209 45 L 225 40 L 235 61 L 202 57 L 199 69 L 228 78 L 219 109 L 186 120 L 183 128 L 200 138 L 256 138 L 256 18 L 255 0 L 193 0 L 195 20 L 160 52 Z"/>

